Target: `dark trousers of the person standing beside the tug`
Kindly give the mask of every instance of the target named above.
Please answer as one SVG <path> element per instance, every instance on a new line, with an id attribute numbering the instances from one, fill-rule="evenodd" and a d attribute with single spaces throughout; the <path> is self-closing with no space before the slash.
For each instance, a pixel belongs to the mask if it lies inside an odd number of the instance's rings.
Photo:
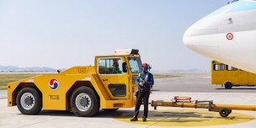
<path id="1" fill-rule="evenodd" d="M 148 99 L 149 99 L 149 92 L 139 92 L 137 96 L 137 101 L 136 101 L 136 107 L 135 107 L 135 117 L 137 118 L 140 112 L 141 108 L 141 101 L 143 99 L 144 102 L 144 117 L 147 118 L 147 113 L 148 113 Z"/>

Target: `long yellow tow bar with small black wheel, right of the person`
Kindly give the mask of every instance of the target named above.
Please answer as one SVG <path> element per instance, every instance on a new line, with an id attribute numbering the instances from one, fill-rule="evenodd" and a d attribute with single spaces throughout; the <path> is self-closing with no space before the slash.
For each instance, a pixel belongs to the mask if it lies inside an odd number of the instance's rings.
<path id="1" fill-rule="evenodd" d="M 232 113 L 232 109 L 256 111 L 255 105 L 213 104 L 212 100 L 191 101 L 191 98 L 189 97 L 179 96 L 175 96 L 173 102 L 164 102 L 163 100 L 152 100 L 151 105 L 152 107 L 154 107 L 154 109 L 157 109 L 157 106 L 208 109 L 209 111 L 219 112 L 221 117 L 227 117 L 229 114 Z"/>

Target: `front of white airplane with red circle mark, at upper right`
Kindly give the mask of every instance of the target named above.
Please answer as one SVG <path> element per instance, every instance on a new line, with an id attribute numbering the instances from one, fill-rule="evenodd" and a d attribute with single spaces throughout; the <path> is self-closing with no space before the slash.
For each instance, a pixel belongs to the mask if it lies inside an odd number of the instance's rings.
<path id="1" fill-rule="evenodd" d="M 203 56 L 256 73 L 256 0 L 234 0 L 206 15 L 183 40 Z"/>

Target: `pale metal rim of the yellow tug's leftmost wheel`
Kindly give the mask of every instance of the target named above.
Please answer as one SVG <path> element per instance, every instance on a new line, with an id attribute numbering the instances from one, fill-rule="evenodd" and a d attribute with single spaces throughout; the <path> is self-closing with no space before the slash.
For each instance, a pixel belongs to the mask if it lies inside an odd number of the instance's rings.
<path id="1" fill-rule="evenodd" d="M 32 93 L 24 93 L 20 98 L 20 104 L 24 109 L 32 109 L 35 106 L 35 97 Z"/>

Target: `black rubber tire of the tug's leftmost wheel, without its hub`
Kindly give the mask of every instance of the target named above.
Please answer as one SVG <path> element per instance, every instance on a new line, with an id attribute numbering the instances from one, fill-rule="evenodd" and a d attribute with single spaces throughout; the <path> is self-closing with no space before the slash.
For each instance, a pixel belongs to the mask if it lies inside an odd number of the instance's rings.
<path id="1" fill-rule="evenodd" d="M 21 101 L 22 100 L 21 98 L 24 95 L 24 93 L 30 93 L 35 98 L 32 101 L 34 106 L 31 109 L 24 109 L 24 107 L 21 104 L 21 102 L 23 102 L 23 101 Z M 27 97 L 27 98 L 30 98 L 30 97 Z M 25 102 L 25 99 L 24 99 L 24 102 Z M 40 93 L 35 88 L 22 88 L 19 91 L 18 95 L 17 95 L 16 104 L 17 104 L 17 107 L 18 107 L 19 111 L 22 114 L 24 114 L 24 115 L 36 115 L 36 114 L 40 113 L 40 111 L 42 109 L 42 98 L 41 98 Z"/>

